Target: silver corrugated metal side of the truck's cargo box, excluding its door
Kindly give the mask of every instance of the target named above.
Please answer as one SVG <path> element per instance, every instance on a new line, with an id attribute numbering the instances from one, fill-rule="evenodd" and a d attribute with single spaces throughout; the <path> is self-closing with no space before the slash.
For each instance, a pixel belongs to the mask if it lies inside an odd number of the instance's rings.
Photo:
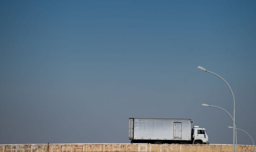
<path id="1" fill-rule="evenodd" d="M 134 118 L 133 139 L 191 140 L 190 119 Z M 174 138 L 174 123 L 181 123 L 181 137 Z"/>

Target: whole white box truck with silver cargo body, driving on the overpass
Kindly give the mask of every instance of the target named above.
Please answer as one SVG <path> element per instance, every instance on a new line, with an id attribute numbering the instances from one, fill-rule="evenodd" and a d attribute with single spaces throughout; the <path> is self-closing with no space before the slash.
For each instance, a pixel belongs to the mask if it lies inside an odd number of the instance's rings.
<path id="1" fill-rule="evenodd" d="M 209 144 L 204 128 L 191 119 L 129 118 L 129 139 L 148 144 Z"/>

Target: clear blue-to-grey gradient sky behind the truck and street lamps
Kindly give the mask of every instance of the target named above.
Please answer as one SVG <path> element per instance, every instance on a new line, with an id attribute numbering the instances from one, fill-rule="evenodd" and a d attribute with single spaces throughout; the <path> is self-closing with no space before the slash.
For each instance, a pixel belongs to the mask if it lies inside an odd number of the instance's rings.
<path id="1" fill-rule="evenodd" d="M 256 140 L 255 1 L 0 1 L 0 144 L 129 143 L 128 118 Z M 238 144 L 252 144 L 237 131 Z"/>

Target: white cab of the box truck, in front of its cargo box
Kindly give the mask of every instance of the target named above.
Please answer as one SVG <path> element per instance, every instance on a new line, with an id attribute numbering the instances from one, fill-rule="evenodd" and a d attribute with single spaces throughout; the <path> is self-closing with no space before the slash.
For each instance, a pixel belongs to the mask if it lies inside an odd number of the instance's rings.
<path id="1" fill-rule="evenodd" d="M 208 135 L 206 134 L 204 128 L 194 126 L 191 133 L 193 144 L 209 144 Z"/>

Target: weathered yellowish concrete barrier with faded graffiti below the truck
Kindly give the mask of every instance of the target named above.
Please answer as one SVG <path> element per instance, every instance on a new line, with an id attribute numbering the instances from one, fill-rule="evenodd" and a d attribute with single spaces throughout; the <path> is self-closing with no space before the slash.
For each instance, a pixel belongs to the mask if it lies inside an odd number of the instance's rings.
<path id="1" fill-rule="evenodd" d="M 187 144 L 11 144 L 0 152 L 232 152 L 233 145 Z M 251 145 L 239 145 L 239 152 L 253 152 Z"/>

